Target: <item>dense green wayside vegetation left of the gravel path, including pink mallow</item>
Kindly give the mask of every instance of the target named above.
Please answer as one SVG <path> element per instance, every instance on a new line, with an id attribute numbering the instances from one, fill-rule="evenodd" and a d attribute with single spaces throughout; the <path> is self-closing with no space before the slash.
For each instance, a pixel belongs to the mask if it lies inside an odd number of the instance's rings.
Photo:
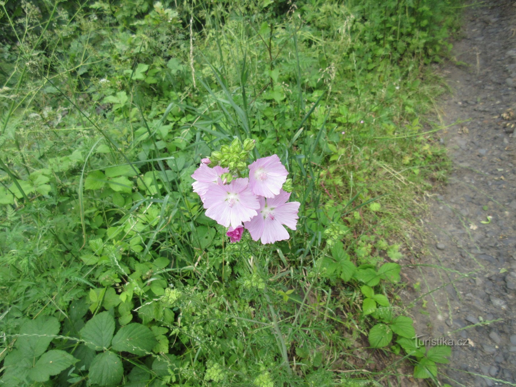
<path id="1" fill-rule="evenodd" d="M 1 3 L 0 380 L 435 380 L 396 290 L 450 3 Z"/>

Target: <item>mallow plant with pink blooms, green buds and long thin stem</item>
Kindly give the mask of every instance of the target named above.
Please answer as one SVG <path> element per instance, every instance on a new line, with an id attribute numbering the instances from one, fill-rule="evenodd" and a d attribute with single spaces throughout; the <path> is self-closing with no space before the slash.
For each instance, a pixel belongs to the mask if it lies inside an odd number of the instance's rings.
<path id="1" fill-rule="evenodd" d="M 257 284 L 268 304 L 283 366 L 292 377 L 285 337 L 278 324 L 280 318 L 273 307 L 269 285 L 261 278 L 264 270 L 260 257 L 263 256 L 261 245 L 288 239 L 285 227 L 296 230 L 300 203 L 288 201 L 293 190 L 292 179 L 287 179 L 288 171 L 278 155 L 261 157 L 248 164 L 255 143 L 253 139 L 243 143 L 234 139 L 231 146 L 224 145 L 209 158 L 203 158 L 191 175 L 195 180 L 192 188 L 201 198 L 205 215 L 227 228 L 230 243 L 244 243 L 241 239 L 246 230 L 249 232 L 250 238 L 246 238 L 245 246 L 238 251 L 240 255 L 254 252 L 249 260 L 250 284 Z M 260 240 L 261 244 L 253 244 L 251 239 Z"/>

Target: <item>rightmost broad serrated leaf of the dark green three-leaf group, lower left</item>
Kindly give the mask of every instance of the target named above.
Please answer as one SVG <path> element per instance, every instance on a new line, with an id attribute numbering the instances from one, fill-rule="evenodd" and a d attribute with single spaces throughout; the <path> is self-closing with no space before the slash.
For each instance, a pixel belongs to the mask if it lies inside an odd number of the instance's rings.
<path id="1" fill-rule="evenodd" d="M 113 349 L 144 355 L 156 345 L 152 331 L 144 325 L 133 322 L 120 328 L 113 337 Z"/>

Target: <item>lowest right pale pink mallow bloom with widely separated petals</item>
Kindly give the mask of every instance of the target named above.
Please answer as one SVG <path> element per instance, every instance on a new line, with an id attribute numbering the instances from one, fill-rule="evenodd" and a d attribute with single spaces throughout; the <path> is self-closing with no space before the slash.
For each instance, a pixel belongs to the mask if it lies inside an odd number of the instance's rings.
<path id="1" fill-rule="evenodd" d="M 287 203 L 288 198 L 290 198 L 290 193 L 283 189 L 274 198 L 259 198 L 259 214 L 250 221 L 244 222 L 244 226 L 249 230 L 253 240 L 261 238 L 262 243 L 266 244 L 288 239 L 288 231 L 283 227 L 283 224 L 289 229 L 296 230 L 300 203 Z"/>

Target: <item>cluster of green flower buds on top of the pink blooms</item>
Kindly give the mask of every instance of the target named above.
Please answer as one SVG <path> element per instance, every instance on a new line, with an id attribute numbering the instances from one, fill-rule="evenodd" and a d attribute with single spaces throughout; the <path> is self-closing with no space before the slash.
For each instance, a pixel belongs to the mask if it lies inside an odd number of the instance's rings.
<path id="1" fill-rule="evenodd" d="M 222 180 L 228 179 L 231 182 L 233 174 L 240 175 L 247 169 L 247 160 L 249 153 L 254 149 L 256 140 L 246 138 L 242 143 L 238 138 L 235 138 L 230 146 L 223 145 L 220 151 L 212 152 L 209 159 L 213 165 L 220 165 L 222 168 L 229 168 L 230 173 L 222 175 Z"/>

